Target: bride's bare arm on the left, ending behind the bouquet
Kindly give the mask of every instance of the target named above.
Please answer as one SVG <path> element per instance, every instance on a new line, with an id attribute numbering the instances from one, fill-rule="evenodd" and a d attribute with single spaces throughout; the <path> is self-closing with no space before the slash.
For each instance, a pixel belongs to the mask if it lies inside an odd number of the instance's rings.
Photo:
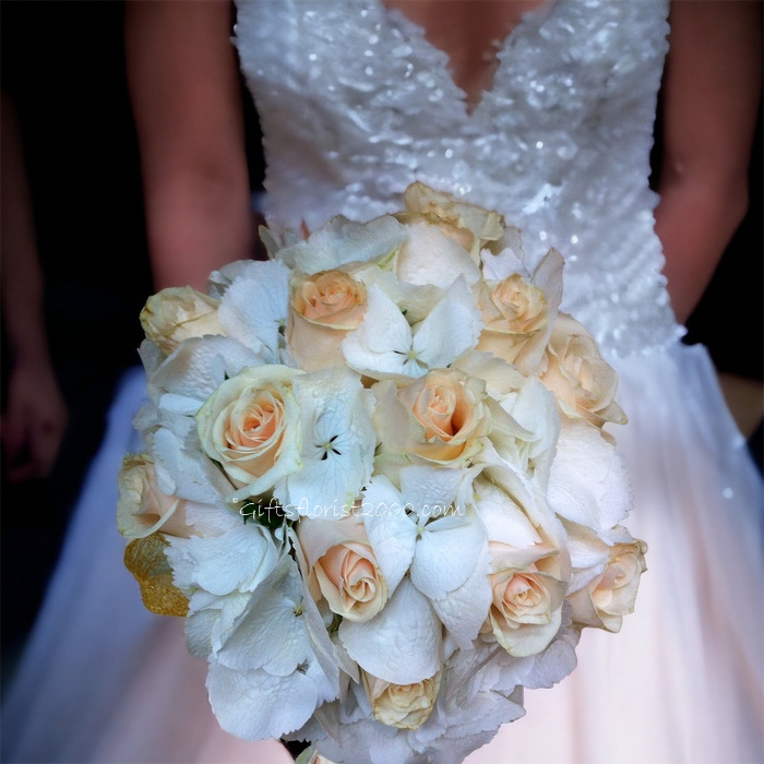
<path id="1" fill-rule="evenodd" d="M 232 5 L 128 0 L 128 83 L 154 287 L 204 289 L 252 255 L 253 224 Z"/>

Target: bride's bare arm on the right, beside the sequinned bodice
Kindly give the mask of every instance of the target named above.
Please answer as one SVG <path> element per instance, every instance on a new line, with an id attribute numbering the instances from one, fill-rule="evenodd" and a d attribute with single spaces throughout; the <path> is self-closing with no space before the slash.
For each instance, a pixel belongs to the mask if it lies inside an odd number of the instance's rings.
<path id="1" fill-rule="evenodd" d="M 761 13 L 761 0 L 671 4 L 656 230 L 682 323 L 748 210 L 762 93 Z"/>

